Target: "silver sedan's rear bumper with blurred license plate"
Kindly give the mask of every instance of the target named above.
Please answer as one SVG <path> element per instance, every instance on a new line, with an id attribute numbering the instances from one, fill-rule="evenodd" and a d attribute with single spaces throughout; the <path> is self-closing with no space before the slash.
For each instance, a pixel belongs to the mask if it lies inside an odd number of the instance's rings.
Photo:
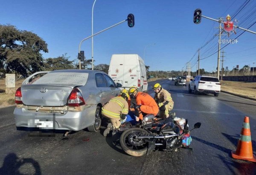
<path id="1" fill-rule="evenodd" d="M 96 106 L 85 108 L 80 112 L 66 111 L 64 114 L 35 112 L 16 107 L 14 117 L 17 127 L 79 131 L 93 125 L 95 111 Z"/>

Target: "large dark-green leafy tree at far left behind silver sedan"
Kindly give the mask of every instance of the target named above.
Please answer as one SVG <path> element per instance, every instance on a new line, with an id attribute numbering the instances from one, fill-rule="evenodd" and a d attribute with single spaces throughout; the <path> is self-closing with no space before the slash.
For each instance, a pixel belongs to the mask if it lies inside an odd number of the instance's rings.
<path id="1" fill-rule="evenodd" d="M 42 70 L 41 51 L 48 52 L 47 43 L 37 34 L 0 25 L 0 68 L 4 67 L 7 73 L 27 76 Z"/>

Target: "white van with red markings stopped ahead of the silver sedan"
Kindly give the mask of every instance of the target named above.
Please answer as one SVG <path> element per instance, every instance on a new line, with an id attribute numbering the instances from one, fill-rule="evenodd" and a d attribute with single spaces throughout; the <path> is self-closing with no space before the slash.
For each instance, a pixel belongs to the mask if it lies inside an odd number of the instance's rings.
<path id="1" fill-rule="evenodd" d="M 148 81 L 144 60 L 137 54 L 112 55 L 108 75 L 122 88 L 136 86 L 141 92 L 148 92 Z"/>

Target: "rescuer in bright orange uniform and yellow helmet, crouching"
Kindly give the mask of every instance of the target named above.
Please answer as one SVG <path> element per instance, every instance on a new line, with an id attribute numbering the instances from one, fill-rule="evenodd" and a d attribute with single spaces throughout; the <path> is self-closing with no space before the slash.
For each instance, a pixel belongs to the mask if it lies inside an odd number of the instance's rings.
<path id="1" fill-rule="evenodd" d="M 134 106 L 135 115 L 139 118 L 139 120 L 143 120 L 143 114 L 153 114 L 157 115 L 159 109 L 155 100 L 145 92 L 138 92 L 138 88 L 132 86 L 129 89 L 129 95 L 131 98 L 136 98 L 137 105 Z M 136 120 L 138 121 L 138 118 Z"/>

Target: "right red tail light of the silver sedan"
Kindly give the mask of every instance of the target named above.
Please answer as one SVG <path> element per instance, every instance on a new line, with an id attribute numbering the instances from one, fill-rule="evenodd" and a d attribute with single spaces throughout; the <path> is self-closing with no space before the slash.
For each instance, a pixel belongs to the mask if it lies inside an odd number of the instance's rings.
<path id="1" fill-rule="evenodd" d="M 68 98 L 67 105 L 68 106 L 81 106 L 84 105 L 84 98 L 79 91 L 79 89 L 75 88 L 70 93 L 70 97 Z"/>

